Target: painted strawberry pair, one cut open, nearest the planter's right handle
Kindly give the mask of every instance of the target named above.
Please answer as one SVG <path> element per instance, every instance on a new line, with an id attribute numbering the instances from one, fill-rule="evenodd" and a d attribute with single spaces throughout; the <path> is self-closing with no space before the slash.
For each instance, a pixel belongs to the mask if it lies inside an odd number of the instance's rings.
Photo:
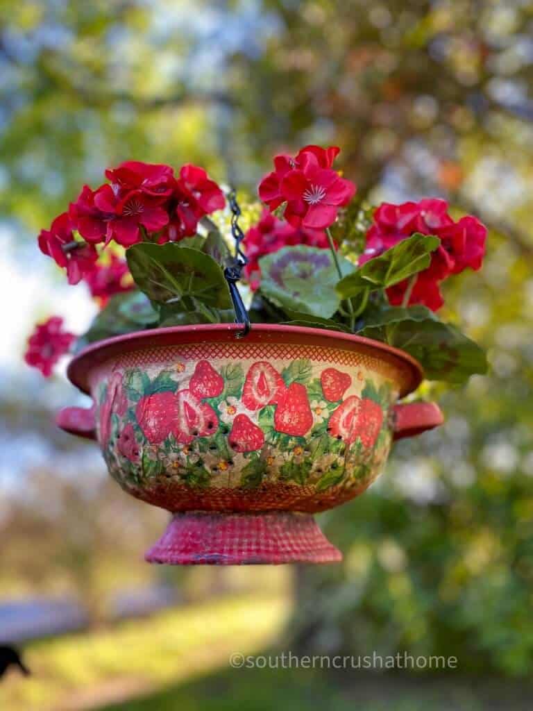
<path id="1" fill-rule="evenodd" d="M 333 412 L 328 427 L 333 437 L 342 437 L 347 444 L 360 437 L 364 447 L 373 447 L 382 422 L 383 411 L 377 402 L 351 395 Z"/>

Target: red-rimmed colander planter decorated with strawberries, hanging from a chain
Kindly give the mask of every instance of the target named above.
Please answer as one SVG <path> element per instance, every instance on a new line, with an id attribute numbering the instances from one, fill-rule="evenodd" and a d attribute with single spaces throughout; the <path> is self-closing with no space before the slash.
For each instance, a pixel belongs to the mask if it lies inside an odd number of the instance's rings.
<path id="1" fill-rule="evenodd" d="M 173 514 L 149 562 L 335 562 L 313 513 L 382 471 L 393 439 L 442 422 L 397 400 L 421 382 L 403 351 L 335 331 L 160 328 L 85 348 L 68 369 L 94 400 L 58 424 L 97 439 L 131 496 Z"/>

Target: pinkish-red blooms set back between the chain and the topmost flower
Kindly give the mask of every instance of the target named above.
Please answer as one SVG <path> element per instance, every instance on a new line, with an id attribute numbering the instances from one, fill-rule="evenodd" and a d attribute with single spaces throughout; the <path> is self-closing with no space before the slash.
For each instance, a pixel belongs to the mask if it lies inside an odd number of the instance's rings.
<path id="1" fill-rule="evenodd" d="M 261 220 L 254 227 L 249 228 L 244 236 L 243 245 L 246 248 L 248 263 L 244 267 L 244 274 L 250 287 L 255 290 L 259 287 L 261 269 L 259 259 L 264 255 L 281 250 L 289 245 L 308 245 L 309 247 L 327 248 L 328 237 L 323 230 L 304 230 L 296 228 L 283 220 L 278 220 L 266 208 L 263 210 Z"/>

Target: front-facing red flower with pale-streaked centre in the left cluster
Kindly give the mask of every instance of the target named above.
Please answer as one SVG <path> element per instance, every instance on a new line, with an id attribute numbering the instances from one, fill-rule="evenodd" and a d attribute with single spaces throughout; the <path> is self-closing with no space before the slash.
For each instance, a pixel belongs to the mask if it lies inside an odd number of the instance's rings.
<path id="1" fill-rule="evenodd" d="M 141 225 L 148 232 L 161 230 L 168 223 L 168 213 L 160 203 L 161 198 L 141 190 L 121 196 L 110 185 L 102 185 L 95 193 L 95 205 L 105 215 L 111 215 L 107 220 L 106 241 L 114 238 L 119 245 L 130 247 L 141 241 Z"/>

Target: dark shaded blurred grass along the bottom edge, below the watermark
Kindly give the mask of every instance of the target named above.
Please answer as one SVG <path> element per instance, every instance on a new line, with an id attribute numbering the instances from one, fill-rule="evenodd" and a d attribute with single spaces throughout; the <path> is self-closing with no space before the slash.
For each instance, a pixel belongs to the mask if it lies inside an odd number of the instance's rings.
<path id="1" fill-rule="evenodd" d="M 266 668 L 219 670 L 97 711 L 529 711 L 531 698 L 498 678 Z"/>

